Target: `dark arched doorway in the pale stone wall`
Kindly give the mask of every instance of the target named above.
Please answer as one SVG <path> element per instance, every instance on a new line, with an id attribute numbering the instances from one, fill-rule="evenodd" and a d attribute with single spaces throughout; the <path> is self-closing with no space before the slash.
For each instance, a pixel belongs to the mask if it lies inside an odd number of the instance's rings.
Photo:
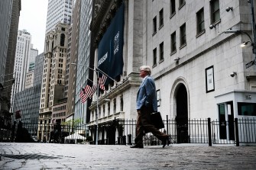
<path id="1" fill-rule="evenodd" d="M 185 85 L 180 85 L 177 96 L 177 143 L 189 143 L 188 135 L 188 106 Z"/>

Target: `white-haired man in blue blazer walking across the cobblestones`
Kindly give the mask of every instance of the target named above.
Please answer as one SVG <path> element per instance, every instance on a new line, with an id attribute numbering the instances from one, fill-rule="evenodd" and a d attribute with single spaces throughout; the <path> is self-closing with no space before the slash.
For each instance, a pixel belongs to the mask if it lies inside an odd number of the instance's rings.
<path id="1" fill-rule="evenodd" d="M 141 86 L 137 93 L 137 125 L 135 145 L 131 148 L 143 148 L 144 131 L 151 132 L 158 140 L 163 143 L 163 148 L 167 144 L 168 135 L 160 132 L 151 124 L 150 114 L 157 112 L 157 96 L 154 79 L 151 77 L 151 67 L 141 66 L 140 75 L 142 78 Z"/>

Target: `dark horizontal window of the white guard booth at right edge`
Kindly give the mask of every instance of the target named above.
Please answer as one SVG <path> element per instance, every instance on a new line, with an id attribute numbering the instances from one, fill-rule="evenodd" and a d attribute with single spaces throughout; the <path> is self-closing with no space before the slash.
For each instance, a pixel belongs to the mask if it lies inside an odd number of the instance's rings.
<path id="1" fill-rule="evenodd" d="M 238 115 L 256 116 L 256 104 L 238 102 Z"/>

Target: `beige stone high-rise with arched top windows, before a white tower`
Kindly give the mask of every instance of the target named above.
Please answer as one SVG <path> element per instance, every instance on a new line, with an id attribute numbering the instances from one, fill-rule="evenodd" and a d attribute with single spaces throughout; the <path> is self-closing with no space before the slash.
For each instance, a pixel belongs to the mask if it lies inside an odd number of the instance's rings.
<path id="1" fill-rule="evenodd" d="M 66 53 L 69 25 L 57 24 L 55 30 L 51 30 L 45 39 L 44 46 L 44 71 L 41 87 L 40 117 L 39 123 L 51 123 L 53 105 L 64 98 Z M 39 132 L 50 137 L 50 130 Z M 42 137 L 44 136 L 42 135 Z"/>

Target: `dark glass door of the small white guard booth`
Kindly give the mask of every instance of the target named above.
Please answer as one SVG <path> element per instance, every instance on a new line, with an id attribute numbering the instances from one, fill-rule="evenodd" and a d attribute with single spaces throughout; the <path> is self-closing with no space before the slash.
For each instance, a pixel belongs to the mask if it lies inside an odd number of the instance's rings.
<path id="1" fill-rule="evenodd" d="M 233 102 L 218 104 L 219 108 L 219 138 L 221 140 L 235 140 Z"/>

